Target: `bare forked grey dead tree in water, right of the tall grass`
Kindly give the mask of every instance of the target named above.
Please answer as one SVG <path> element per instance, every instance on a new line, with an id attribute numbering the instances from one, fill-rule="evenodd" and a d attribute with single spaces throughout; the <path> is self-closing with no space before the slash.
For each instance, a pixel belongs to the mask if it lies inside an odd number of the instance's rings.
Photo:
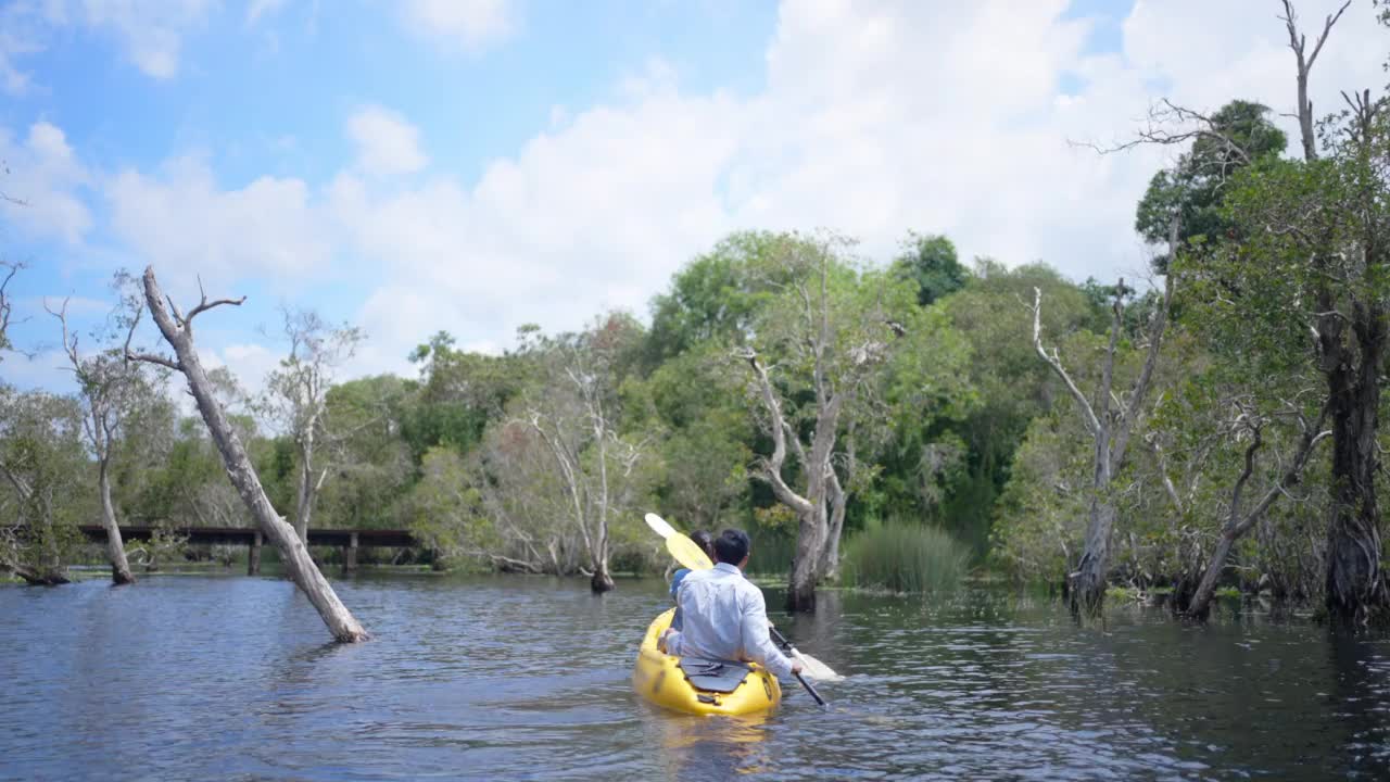
<path id="1" fill-rule="evenodd" d="M 1173 217 L 1169 224 L 1169 266 L 1172 266 L 1177 253 L 1179 228 L 1180 220 Z M 1111 497 L 1111 481 L 1125 463 L 1130 437 L 1140 423 L 1140 410 L 1144 408 L 1144 399 L 1148 397 L 1150 387 L 1152 385 L 1154 367 L 1158 365 L 1159 349 L 1163 344 L 1163 331 L 1168 327 L 1168 314 L 1173 301 L 1173 274 L 1165 278 L 1163 301 L 1154 314 L 1144 365 L 1134 380 L 1133 388 L 1122 398 L 1113 394 L 1113 384 L 1115 352 L 1119 345 L 1120 330 L 1123 328 L 1125 292 L 1125 281 L 1120 280 L 1115 289 L 1115 301 L 1111 305 L 1111 338 L 1105 349 L 1105 358 L 1101 362 L 1101 387 L 1095 391 L 1093 404 L 1077 388 L 1072 376 L 1062 366 L 1061 355 L 1055 349 L 1049 353 L 1042 346 L 1042 291 L 1038 288 L 1033 289 L 1033 349 L 1037 351 L 1038 358 L 1066 385 L 1068 392 L 1076 401 L 1081 423 L 1091 436 L 1094 445 L 1086 541 L 1080 561 L 1066 576 L 1066 591 L 1074 612 L 1097 614 L 1105 598 L 1105 579 L 1111 564 L 1111 537 L 1115 530 L 1116 516 L 1115 501 Z"/>

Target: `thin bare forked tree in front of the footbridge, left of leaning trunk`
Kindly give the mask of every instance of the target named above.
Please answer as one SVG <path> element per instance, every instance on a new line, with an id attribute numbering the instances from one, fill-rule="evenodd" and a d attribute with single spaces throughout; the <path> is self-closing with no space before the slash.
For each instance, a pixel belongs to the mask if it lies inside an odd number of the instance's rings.
<path id="1" fill-rule="evenodd" d="M 135 395 L 143 391 L 139 377 L 139 366 L 122 360 L 122 351 L 104 351 L 83 358 L 78 352 L 78 335 L 68 328 L 68 301 L 57 312 L 44 309 L 58 320 L 63 328 L 63 352 L 72 365 L 72 374 L 78 381 L 79 395 L 83 402 L 82 430 L 86 436 L 88 447 L 96 456 L 97 495 L 101 500 L 101 526 L 106 529 L 106 554 L 111 561 L 111 582 L 115 584 L 135 583 L 131 573 L 131 564 L 125 558 L 125 544 L 121 540 L 121 525 L 115 520 L 115 504 L 111 501 L 111 459 L 115 452 L 117 440 L 122 434 L 125 413 L 131 408 Z M 131 320 L 131 330 L 135 333 L 139 317 Z"/>

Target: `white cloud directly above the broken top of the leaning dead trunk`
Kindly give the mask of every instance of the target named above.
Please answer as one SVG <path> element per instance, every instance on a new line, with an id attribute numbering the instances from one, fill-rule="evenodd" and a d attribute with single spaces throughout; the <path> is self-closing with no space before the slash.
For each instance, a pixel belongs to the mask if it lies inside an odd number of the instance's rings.
<path id="1" fill-rule="evenodd" d="M 292 285 L 329 263 L 332 246 L 300 179 L 261 177 L 222 191 L 204 161 L 182 157 L 157 177 L 121 171 L 104 193 L 115 232 L 175 289 L 192 289 L 195 274 L 210 289 L 245 278 Z"/>

